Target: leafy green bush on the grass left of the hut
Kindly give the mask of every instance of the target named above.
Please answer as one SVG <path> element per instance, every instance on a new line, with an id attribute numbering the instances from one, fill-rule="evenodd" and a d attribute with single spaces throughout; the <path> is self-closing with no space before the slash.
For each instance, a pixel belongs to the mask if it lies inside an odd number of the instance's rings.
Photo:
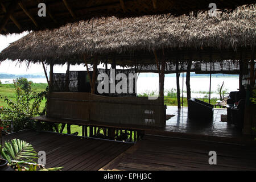
<path id="1" fill-rule="evenodd" d="M 32 82 L 28 81 L 27 78 L 14 80 L 15 101 L 5 97 L 8 107 L 0 110 L 2 119 L 5 120 L 4 128 L 10 126 L 11 122 L 13 122 L 14 131 L 31 128 L 33 124 L 31 124 L 30 118 L 41 114 L 39 106 L 42 100 L 46 98 L 47 90 L 40 93 L 32 92 L 31 84 Z M 1 95 L 0 98 L 2 98 Z"/>

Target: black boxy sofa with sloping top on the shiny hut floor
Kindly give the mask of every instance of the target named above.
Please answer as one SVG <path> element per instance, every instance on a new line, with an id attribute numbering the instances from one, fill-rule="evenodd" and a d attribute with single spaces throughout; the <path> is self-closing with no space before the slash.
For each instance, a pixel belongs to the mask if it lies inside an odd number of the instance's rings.
<path id="1" fill-rule="evenodd" d="M 191 98 L 188 100 L 188 118 L 212 121 L 213 105 Z"/>

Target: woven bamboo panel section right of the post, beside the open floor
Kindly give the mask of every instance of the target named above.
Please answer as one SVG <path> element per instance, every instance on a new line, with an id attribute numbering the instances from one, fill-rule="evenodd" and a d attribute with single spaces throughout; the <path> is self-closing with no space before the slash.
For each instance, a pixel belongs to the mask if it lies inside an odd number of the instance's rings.
<path id="1" fill-rule="evenodd" d="M 105 97 L 92 94 L 90 119 L 99 122 L 164 126 L 160 100 L 143 97 Z"/>

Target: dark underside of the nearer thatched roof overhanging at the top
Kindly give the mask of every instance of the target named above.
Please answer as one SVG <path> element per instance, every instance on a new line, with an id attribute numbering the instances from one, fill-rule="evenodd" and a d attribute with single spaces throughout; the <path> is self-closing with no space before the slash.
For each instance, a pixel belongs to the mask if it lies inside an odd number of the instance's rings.
<path id="1" fill-rule="evenodd" d="M 1 0 L 0 2 L 0 29 L 2 24 L 7 23 L 0 34 L 57 28 L 66 23 L 106 16 L 128 18 L 167 13 L 179 16 L 191 11 L 209 10 L 209 3 L 212 3 L 209 0 Z M 43 18 L 38 16 L 38 4 L 42 2 L 46 3 L 47 7 L 47 16 Z M 218 9 L 230 11 L 237 6 L 249 5 L 255 1 L 215 0 L 214 3 Z M 11 15 L 10 19 L 8 15 Z"/>

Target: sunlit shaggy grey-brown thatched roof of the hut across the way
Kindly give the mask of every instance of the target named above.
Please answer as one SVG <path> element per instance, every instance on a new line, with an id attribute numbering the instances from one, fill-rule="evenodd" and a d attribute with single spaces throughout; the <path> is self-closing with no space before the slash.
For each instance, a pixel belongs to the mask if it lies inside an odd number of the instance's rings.
<path id="1" fill-rule="evenodd" d="M 82 55 L 115 59 L 119 65 L 155 63 L 153 50 L 166 60 L 250 60 L 255 45 L 254 5 L 232 14 L 143 16 L 79 22 L 50 31 L 32 32 L 0 53 L 0 60 L 84 63 Z"/>

